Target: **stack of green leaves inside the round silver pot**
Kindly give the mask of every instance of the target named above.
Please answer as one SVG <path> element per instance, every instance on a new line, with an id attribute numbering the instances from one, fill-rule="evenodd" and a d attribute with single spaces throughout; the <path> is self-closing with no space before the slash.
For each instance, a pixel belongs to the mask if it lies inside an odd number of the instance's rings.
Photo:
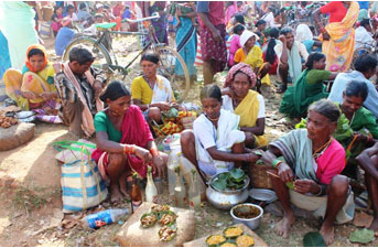
<path id="1" fill-rule="evenodd" d="M 241 169 L 233 169 L 220 173 L 213 181 L 213 186 L 219 191 L 235 191 L 245 186 L 246 173 Z"/>

